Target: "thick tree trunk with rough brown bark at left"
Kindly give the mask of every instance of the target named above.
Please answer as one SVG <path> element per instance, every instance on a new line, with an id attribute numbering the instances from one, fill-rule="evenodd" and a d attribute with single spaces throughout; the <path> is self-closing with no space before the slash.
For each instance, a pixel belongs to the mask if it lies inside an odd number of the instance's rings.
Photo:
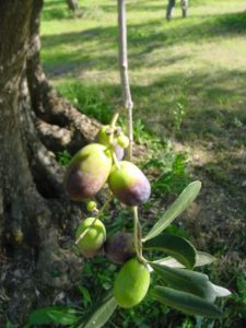
<path id="1" fill-rule="evenodd" d="M 0 1 L 0 327 L 8 318 L 21 326 L 33 305 L 51 302 L 81 269 L 69 241 L 83 207 L 65 195 L 55 152 L 74 153 L 98 124 L 46 80 L 42 7 L 43 0 Z"/>

